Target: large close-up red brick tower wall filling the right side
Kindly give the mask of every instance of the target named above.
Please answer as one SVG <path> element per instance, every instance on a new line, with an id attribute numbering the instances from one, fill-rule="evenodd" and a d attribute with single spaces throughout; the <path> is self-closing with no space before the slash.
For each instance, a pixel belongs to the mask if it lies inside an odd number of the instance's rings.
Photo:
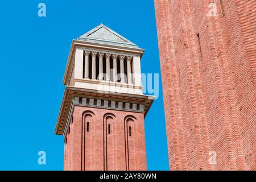
<path id="1" fill-rule="evenodd" d="M 170 169 L 255 170 L 255 0 L 154 3 Z"/>

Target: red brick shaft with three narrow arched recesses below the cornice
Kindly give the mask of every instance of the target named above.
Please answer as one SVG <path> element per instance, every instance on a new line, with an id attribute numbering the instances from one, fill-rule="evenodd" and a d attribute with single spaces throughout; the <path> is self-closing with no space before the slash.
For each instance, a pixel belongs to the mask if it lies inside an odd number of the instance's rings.
<path id="1" fill-rule="evenodd" d="M 64 170 L 147 169 L 143 113 L 75 106 L 69 127 Z"/>

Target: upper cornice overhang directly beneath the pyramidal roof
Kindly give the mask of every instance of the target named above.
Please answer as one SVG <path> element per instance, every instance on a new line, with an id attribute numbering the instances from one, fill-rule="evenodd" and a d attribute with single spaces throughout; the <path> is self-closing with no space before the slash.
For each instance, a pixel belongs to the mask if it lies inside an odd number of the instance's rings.
<path id="1" fill-rule="evenodd" d="M 126 53 L 130 55 L 138 55 L 142 57 L 144 53 L 144 49 L 141 48 L 134 48 L 134 47 L 123 47 L 123 46 L 115 46 L 109 44 L 101 44 L 101 43 L 93 43 L 93 42 L 86 42 L 82 40 L 72 40 L 71 49 L 69 51 L 68 62 L 65 68 L 65 73 L 63 77 L 63 84 L 67 85 L 69 72 L 71 71 L 71 65 L 73 57 L 75 56 L 76 48 L 88 48 L 94 49 L 98 51 L 110 51 L 115 53 Z"/>

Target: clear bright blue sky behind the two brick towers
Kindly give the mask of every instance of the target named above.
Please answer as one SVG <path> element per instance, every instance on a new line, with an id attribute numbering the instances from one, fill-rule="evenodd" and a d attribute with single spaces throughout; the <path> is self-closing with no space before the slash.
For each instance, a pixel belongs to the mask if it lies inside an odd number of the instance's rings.
<path id="1" fill-rule="evenodd" d="M 38 16 L 40 2 L 46 17 Z M 0 170 L 63 170 L 63 136 L 54 129 L 69 48 L 100 23 L 146 49 L 143 73 L 160 73 L 152 0 L 0 1 Z M 169 169 L 159 85 L 145 120 L 148 170 Z M 38 164 L 41 150 L 46 165 Z"/>

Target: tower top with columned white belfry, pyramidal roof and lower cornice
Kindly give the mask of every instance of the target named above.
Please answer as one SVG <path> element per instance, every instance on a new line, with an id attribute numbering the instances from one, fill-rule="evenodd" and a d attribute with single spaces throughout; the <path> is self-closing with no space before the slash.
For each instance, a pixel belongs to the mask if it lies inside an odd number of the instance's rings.
<path id="1" fill-rule="evenodd" d="M 146 117 L 154 97 L 143 94 L 143 52 L 104 24 L 73 40 L 55 133 L 67 134 L 73 106 L 143 113 Z"/>

